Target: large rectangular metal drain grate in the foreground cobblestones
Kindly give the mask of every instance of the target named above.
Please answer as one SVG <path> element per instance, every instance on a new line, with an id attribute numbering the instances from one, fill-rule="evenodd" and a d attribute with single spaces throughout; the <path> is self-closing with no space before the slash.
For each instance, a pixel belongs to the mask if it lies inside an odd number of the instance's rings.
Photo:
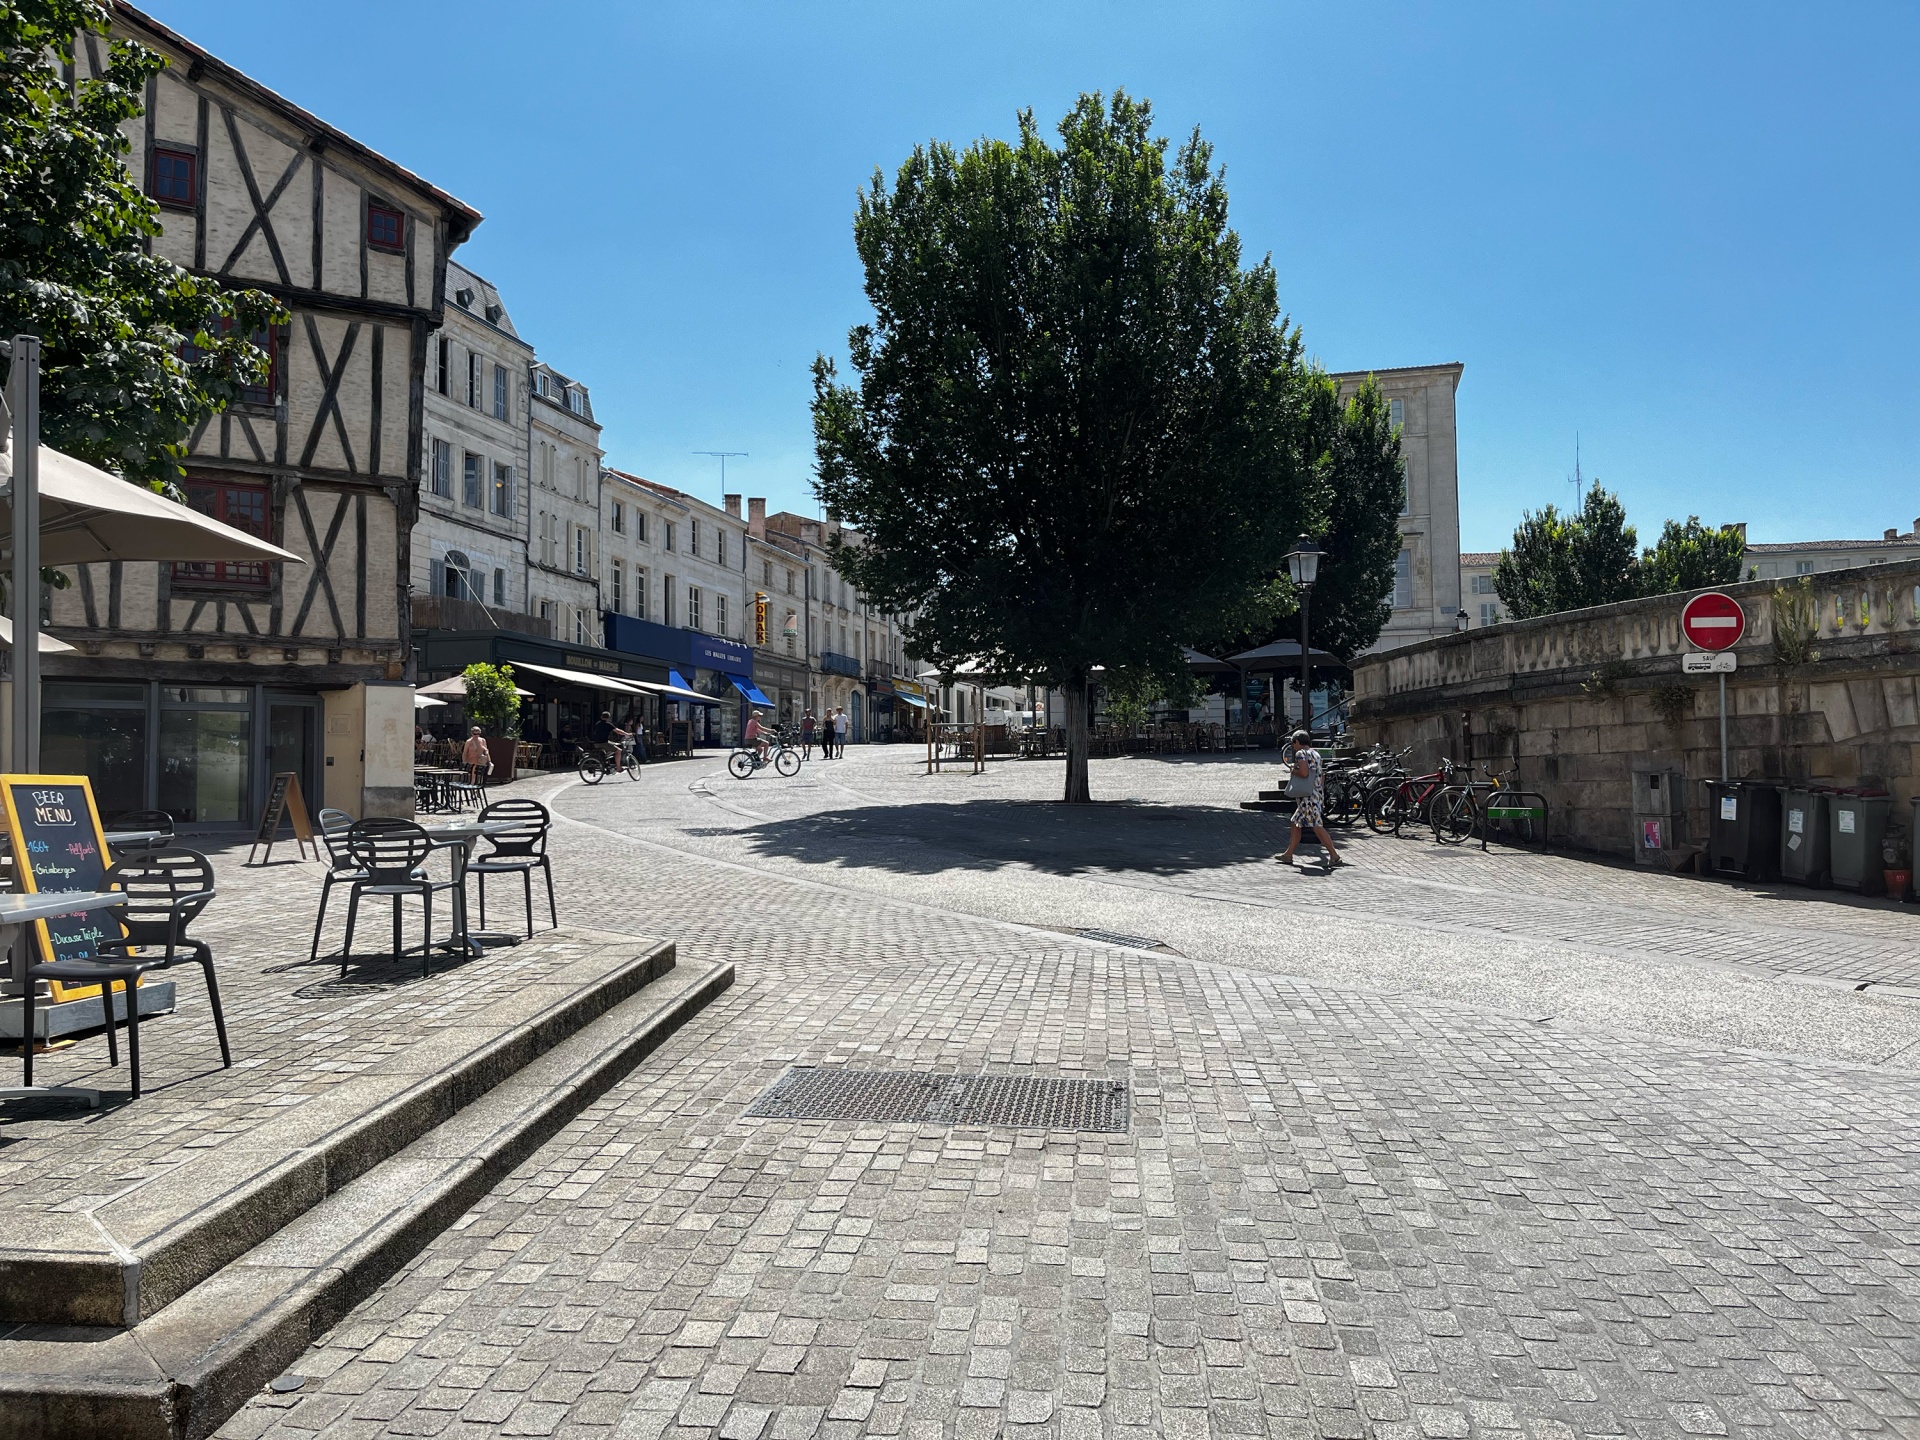
<path id="1" fill-rule="evenodd" d="M 795 1066 L 747 1106 L 756 1119 L 858 1119 L 916 1125 L 1125 1135 L 1121 1081 L 1048 1075 L 929 1075 L 914 1069 Z"/>

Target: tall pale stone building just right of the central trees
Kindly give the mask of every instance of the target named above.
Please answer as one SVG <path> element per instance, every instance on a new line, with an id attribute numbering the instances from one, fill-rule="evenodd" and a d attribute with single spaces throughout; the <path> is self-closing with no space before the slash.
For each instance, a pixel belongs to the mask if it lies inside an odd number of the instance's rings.
<path id="1" fill-rule="evenodd" d="M 1373 651 L 1452 636 L 1459 626 L 1459 432 L 1453 396 L 1465 365 L 1405 365 L 1346 371 L 1334 378 L 1352 394 L 1371 374 L 1386 396 L 1407 465 L 1407 505 L 1394 576 L 1394 612 Z"/>

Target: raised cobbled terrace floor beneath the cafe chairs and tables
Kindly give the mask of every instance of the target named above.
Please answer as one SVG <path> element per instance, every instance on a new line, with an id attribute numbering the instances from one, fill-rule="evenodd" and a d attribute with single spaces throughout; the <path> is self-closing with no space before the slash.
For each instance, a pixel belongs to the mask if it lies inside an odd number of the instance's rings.
<path id="1" fill-rule="evenodd" d="M 200 968 L 167 972 L 177 1010 L 140 1025 L 138 1102 L 125 1102 L 131 1085 L 125 1035 L 121 1066 L 109 1068 L 106 1041 L 94 1033 L 36 1056 L 35 1081 L 94 1087 L 108 1102 L 102 1110 L 65 1100 L 0 1106 L 0 1204 L 10 1212 L 84 1212 L 125 1200 L 194 1158 L 252 1144 L 246 1137 L 271 1131 L 290 1108 L 376 1069 L 399 1050 L 451 1027 L 476 1025 L 484 1006 L 520 996 L 555 973 L 582 973 L 582 966 L 597 973 L 626 958 L 541 937 L 468 962 L 440 956 L 426 977 L 419 958 L 396 964 L 357 954 L 342 979 L 326 954 L 342 941 L 346 887 L 328 904 L 321 960 L 309 966 L 321 866 L 280 862 L 292 847 L 275 849 L 275 864 L 257 868 L 244 864 L 246 845 L 215 849 L 219 897 L 192 931 L 213 948 L 232 1069 L 221 1068 Z M 436 860 L 434 872 L 444 864 Z M 447 933 L 445 906 L 442 895 L 436 935 Z M 507 908 L 509 922 L 518 924 L 520 914 L 516 904 Z M 386 904 L 369 900 L 355 950 L 390 947 L 390 916 Z M 490 920 L 497 924 L 501 916 Z M 419 937 L 420 912 L 409 902 L 405 941 L 415 945 Z M 499 1023 L 507 1027 L 513 1020 Z M 476 1035 L 474 1044 L 480 1043 Z M 0 1064 L 17 1075 L 17 1048 L 10 1046 Z"/>

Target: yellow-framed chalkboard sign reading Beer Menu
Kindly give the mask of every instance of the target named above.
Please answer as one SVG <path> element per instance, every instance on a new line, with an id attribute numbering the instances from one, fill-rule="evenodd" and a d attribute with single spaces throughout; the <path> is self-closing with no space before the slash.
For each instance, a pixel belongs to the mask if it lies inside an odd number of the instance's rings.
<path id="1" fill-rule="evenodd" d="M 113 858 L 100 831 L 100 810 L 94 808 L 86 776 L 0 776 L 0 803 L 6 804 L 17 889 L 27 895 L 106 889 Z M 92 960 L 100 941 L 121 937 L 113 918 L 98 910 L 36 920 L 35 931 L 46 960 Z M 56 1000 L 98 993 L 92 985 L 52 985 Z"/>

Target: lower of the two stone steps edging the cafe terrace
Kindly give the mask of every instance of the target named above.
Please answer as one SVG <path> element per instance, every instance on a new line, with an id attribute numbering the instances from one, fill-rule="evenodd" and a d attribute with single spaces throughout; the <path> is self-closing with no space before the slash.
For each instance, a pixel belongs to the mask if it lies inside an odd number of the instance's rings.
<path id="1" fill-rule="evenodd" d="M 732 983 L 733 966 L 720 962 L 649 985 L 156 1317 L 113 1334 L 144 1375 L 111 1373 L 94 1354 L 98 1329 L 44 1327 L 46 1336 L 31 1336 L 38 1373 L 0 1340 L 0 1434 L 211 1436 Z M 46 1352 L 69 1338 L 69 1363 L 46 1365 Z"/>

